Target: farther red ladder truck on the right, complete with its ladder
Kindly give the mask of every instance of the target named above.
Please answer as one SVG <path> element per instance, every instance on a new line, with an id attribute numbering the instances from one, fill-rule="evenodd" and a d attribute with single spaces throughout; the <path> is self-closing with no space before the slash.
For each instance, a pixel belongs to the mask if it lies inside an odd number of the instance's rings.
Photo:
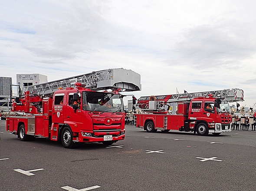
<path id="1" fill-rule="evenodd" d="M 218 135 L 231 131 L 229 102 L 243 101 L 242 89 L 223 89 L 165 96 L 144 96 L 135 114 L 135 127 L 147 132 L 170 130 Z"/>

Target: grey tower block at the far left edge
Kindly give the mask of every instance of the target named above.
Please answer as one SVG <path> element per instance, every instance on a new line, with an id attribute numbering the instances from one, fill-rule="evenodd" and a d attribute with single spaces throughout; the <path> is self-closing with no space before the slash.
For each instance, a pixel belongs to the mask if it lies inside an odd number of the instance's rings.
<path id="1" fill-rule="evenodd" d="M 12 78 L 0 77 L 0 110 L 9 111 Z"/>

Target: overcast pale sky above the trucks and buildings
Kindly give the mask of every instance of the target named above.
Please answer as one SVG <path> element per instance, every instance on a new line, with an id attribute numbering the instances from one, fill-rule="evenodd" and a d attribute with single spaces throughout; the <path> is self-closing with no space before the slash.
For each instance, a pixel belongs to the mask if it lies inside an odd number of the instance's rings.
<path id="1" fill-rule="evenodd" d="M 240 88 L 256 102 L 256 1 L 2 0 L 0 76 L 48 81 L 109 68 L 140 96 Z"/>

